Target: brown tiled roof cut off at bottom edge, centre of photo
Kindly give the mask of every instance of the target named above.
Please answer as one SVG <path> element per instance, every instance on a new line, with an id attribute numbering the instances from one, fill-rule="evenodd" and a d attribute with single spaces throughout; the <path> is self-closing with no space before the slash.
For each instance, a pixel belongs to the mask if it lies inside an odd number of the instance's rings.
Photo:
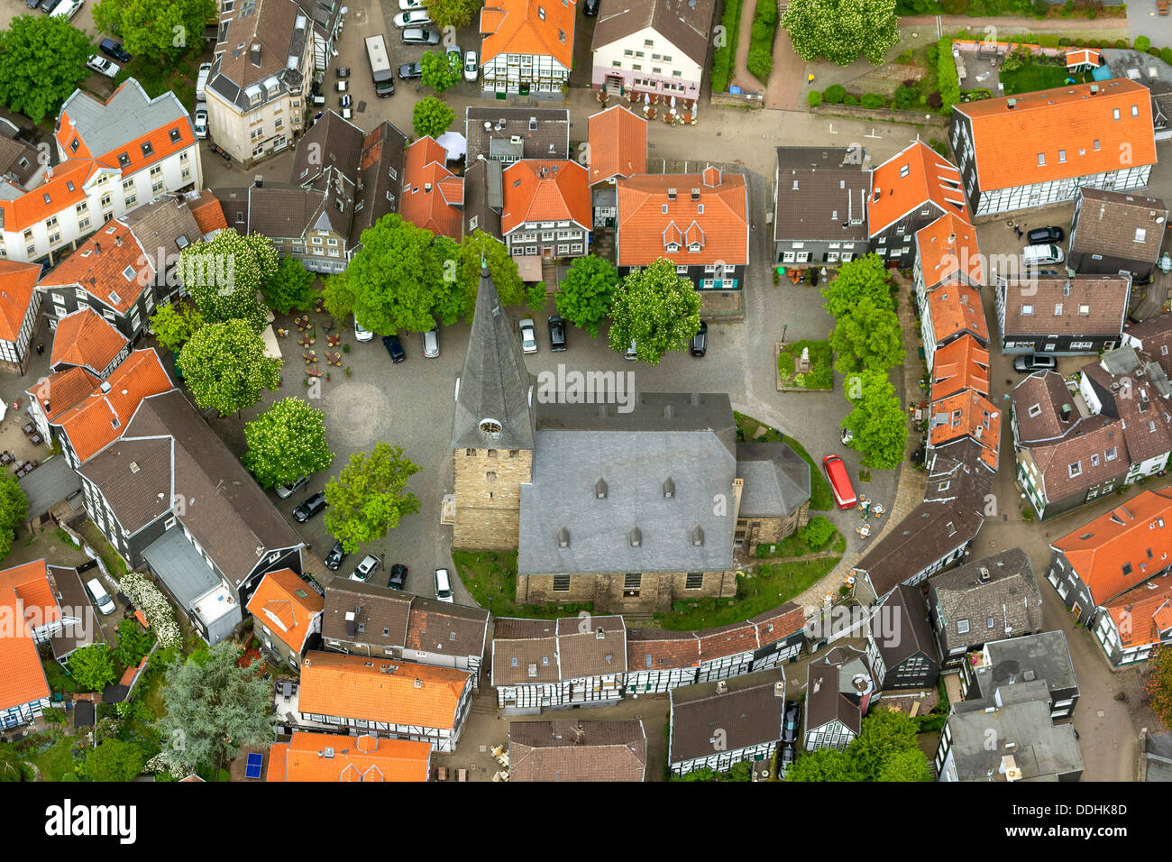
<path id="1" fill-rule="evenodd" d="M 510 781 L 642 781 L 647 735 L 638 719 L 511 721 Z"/>

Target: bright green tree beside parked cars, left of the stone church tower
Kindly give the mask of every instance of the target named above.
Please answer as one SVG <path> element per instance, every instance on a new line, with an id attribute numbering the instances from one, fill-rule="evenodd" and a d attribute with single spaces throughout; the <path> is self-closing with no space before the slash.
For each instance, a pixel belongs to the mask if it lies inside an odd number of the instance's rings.
<path id="1" fill-rule="evenodd" d="M 369 455 L 354 453 L 338 478 L 326 483 L 326 531 L 348 554 L 383 538 L 400 518 L 420 510 L 420 501 L 406 490 L 407 480 L 418 471 L 397 446 L 376 443 Z"/>

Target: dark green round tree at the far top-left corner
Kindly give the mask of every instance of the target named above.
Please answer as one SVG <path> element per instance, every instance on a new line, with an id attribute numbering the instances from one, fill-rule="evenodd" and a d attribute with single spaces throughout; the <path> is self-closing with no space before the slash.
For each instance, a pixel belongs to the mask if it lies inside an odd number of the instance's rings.
<path id="1" fill-rule="evenodd" d="M 63 16 L 18 15 L 0 30 L 0 103 L 34 123 L 55 115 L 89 77 L 89 36 Z"/>

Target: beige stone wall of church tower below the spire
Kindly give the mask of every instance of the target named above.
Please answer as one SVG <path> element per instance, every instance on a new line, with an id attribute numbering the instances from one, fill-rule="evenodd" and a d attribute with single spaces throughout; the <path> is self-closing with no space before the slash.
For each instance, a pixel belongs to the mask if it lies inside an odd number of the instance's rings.
<path id="1" fill-rule="evenodd" d="M 456 449 L 452 548 L 515 551 L 520 535 L 520 486 L 533 475 L 530 449 Z"/>

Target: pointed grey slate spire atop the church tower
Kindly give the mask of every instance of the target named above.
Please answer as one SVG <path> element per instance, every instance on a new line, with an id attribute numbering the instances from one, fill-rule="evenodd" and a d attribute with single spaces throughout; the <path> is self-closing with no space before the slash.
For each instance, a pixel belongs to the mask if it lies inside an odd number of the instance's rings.
<path id="1" fill-rule="evenodd" d="M 452 449 L 532 449 L 537 413 L 533 376 L 525 368 L 515 327 L 481 262 L 472 333 L 456 392 Z"/>

